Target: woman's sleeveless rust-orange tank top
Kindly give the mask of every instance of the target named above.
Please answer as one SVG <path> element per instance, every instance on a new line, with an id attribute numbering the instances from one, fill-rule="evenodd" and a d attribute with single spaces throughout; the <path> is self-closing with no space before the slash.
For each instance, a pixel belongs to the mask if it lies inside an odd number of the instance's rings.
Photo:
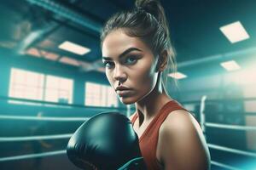
<path id="1" fill-rule="evenodd" d="M 158 142 L 158 134 L 161 124 L 166 120 L 166 117 L 172 111 L 185 110 L 177 101 L 172 100 L 166 103 L 160 111 L 154 116 L 154 119 L 149 123 L 148 127 L 143 132 L 139 139 L 140 149 L 143 159 L 148 170 L 160 170 L 156 158 L 156 147 Z M 186 110 L 185 110 L 186 111 Z M 137 113 L 132 117 L 132 125 L 137 119 Z"/>

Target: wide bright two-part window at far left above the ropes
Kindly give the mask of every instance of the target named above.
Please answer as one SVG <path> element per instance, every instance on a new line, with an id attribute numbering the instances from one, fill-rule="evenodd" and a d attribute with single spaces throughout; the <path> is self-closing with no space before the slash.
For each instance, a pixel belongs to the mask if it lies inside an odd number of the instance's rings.
<path id="1" fill-rule="evenodd" d="M 73 102 L 73 80 L 12 68 L 9 97 L 71 104 Z M 27 102 L 10 102 L 28 104 Z"/>

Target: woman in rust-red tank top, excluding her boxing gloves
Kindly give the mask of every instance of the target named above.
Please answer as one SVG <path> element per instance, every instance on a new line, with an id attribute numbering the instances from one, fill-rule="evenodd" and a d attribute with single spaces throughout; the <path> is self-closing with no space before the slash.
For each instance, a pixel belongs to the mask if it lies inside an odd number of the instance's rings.
<path id="1" fill-rule="evenodd" d="M 122 103 L 136 105 L 131 122 L 148 169 L 210 169 L 199 124 L 166 93 L 175 62 L 160 3 L 137 1 L 133 10 L 113 15 L 101 40 L 108 81 Z"/>

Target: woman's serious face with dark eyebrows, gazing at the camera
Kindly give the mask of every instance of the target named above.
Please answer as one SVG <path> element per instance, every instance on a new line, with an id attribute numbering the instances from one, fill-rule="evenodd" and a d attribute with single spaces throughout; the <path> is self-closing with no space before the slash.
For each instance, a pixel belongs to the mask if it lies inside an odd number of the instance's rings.
<path id="1" fill-rule="evenodd" d="M 108 82 L 122 103 L 135 103 L 154 89 L 157 59 L 138 37 L 121 29 L 111 31 L 102 43 L 102 56 Z"/>

